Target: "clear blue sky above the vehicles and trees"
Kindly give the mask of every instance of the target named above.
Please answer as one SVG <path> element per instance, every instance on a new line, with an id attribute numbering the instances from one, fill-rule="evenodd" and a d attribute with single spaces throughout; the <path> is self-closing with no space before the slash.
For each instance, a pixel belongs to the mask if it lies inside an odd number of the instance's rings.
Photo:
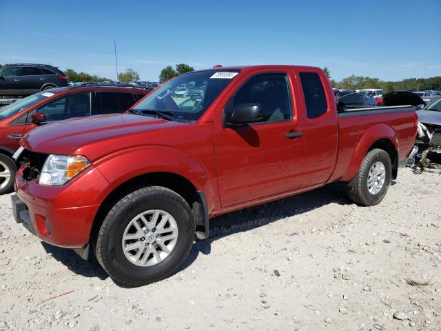
<path id="1" fill-rule="evenodd" d="M 0 63 L 50 63 L 114 79 L 134 68 L 327 66 L 401 80 L 441 74 L 440 0 L 0 0 Z"/>

